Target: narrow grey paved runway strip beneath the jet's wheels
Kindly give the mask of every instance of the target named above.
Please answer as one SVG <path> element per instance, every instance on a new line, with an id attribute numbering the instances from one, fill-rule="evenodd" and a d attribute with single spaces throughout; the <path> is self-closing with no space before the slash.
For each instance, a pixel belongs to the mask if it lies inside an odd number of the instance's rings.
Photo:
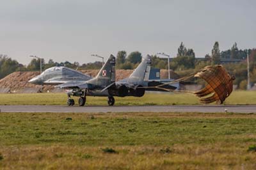
<path id="1" fill-rule="evenodd" d="M 256 105 L 0 105 L 1 112 L 256 112 Z"/>

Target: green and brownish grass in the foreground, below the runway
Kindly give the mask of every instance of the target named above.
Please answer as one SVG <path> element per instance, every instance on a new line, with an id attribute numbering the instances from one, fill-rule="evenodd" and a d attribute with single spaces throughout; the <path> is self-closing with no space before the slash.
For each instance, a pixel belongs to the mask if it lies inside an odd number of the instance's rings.
<path id="1" fill-rule="evenodd" d="M 0 113 L 0 169 L 255 169 L 256 114 Z"/>

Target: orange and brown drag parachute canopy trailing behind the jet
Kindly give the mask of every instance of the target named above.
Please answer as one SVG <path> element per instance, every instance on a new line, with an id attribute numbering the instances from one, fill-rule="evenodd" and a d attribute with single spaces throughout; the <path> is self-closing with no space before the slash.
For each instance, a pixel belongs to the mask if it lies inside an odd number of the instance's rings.
<path id="1" fill-rule="evenodd" d="M 194 94 L 200 98 L 200 102 L 204 104 L 215 101 L 223 104 L 233 90 L 235 77 L 227 73 L 225 68 L 221 65 L 205 66 L 205 68 L 196 73 L 194 77 L 199 77 L 207 82 L 205 88 L 194 92 Z"/>

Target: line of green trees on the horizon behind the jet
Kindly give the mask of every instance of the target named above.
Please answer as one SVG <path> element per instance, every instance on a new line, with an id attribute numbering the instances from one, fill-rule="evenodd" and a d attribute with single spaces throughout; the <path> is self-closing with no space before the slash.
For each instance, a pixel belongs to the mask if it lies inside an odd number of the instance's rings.
<path id="1" fill-rule="evenodd" d="M 235 84 L 239 85 L 239 88 L 245 88 L 246 86 L 246 56 L 250 56 L 250 74 L 251 80 L 253 83 L 256 82 L 256 49 L 238 49 L 237 43 L 234 43 L 232 47 L 228 50 L 220 51 L 219 43 L 215 42 L 211 55 L 205 54 L 205 57 L 202 59 L 195 58 L 195 52 L 191 48 L 187 48 L 183 42 L 180 43 L 177 54 L 170 61 L 170 68 L 180 75 L 186 75 L 186 73 L 195 72 L 204 66 L 207 65 L 218 65 L 221 64 L 223 59 L 229 59 L 230 61 L 236 60 L 241 61 L 239 63 L 227 63 L 223 64 L 228 72 L 232 73 L 237 77 Z M 120 50 L 116 54 L 116 68 L 118 69 L 134 69 L 141 62 L 142 55 L 139 51 L 131 52 L 127 55 L 125 50 Z M 88 70 L 88 69 L 100 69 L 102 67 L 102 62 L 95 61 L 94 63 L 83 63 L 79 64 L 78 62 L 70 63 L 69 61 L 65 62 L 54 62 L 52 59 L 49 59 L 48 62 L 45 62 L 44 59 L 41 59 L 42 70 L 50 68 L 52 66 L 67 66 L 69 68 L 78 69 L 78 70 Z M 152 67 L 166 69 L 168 68 L 168 62 L 166 58 L 159 58 L 156 54 L 152 55 Z M 33 58 L 29 64 L 22 65 L 16 60 L 9 58 L 6 55 L 0 54 L 0 79 L 6 75 L 15 72 L 15 71 L 38 71 L 40 70 L 40 59 Z"/>

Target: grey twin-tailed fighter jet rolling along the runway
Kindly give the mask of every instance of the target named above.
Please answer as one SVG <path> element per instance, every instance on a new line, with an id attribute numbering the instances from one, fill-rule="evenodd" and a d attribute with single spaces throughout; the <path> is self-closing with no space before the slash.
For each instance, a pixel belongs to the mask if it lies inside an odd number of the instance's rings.
<path id="1" fill-rule="evenodd" d="M 45 72 L 34 77 L 29 82 L 34 84 L 59 84 L 55 87 L 67 90 L 68 105 L 75 104 L 74 99 L 72 99 L 71 96 L 79 97 L 79 106 L 85 104 L 86 96 L 108 97 L 108 105 L 114 105 L 114 97 L 143 97 L 145 90 L 161 91 L 161 89 L 155 89 L 153 85 L 163 84 L 164 80 L 149 80 L 150 65 L 151 57 L 147 55 L 127 79 L 116 82 L 115 57 L 111 55 L 94 78 L 87 75 L 84 75 L 83 77 L 83 73 L 73 70 L 73 74 L 65 76 L 70 79 L 68 79 L 68 81 L 63 81 L 63 79 L 60 78 L 61 76 L 58 75 L 57 68 L 49 68 L 49 70 L 45 70 Z M 70 68 L 68 68 L 68 70 L 72 71 Z M 47 72 L 49 72 L 48 75 L 46 74 Z M 80 74 L 83 79 L 87 80 L 83 80 L 81 77 L 79 78 L 79 76 L 76 76 Z M 151 86 L 152 88 L 150 88 Z M 175 89 L 177 87 L 166 85 L 166 88 Z"/>

